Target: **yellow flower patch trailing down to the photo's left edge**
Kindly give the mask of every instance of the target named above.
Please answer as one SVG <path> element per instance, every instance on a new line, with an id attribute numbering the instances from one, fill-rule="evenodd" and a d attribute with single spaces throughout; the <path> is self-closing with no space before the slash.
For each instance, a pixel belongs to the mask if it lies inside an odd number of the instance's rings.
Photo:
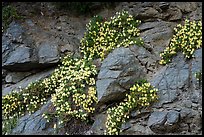
<path id="1" fill-rule="evenodd" d="M 45 104 L 51 93 L 42 92 L 46 86 L 42 81 L 30 83 L 25 89 L 2 97 L 2 112 L 4 119 L 23 116 L 26 112 L 33 113 L 39 106 Z"/>

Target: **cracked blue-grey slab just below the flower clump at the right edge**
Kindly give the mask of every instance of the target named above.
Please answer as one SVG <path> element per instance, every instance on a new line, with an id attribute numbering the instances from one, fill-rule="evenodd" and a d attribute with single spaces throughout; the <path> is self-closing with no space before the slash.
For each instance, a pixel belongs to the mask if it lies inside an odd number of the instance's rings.
<path id="1" fill-rule="evenodd" d="M 178 63 L 179 62 L 179 63 Z M 184 56 L 178 53 L 172 63 L 157 71 L 150 79 L 150 83 L 158 88 L 158 107 L 164 103 L 174 102 L 180 94 L 178 89 L 189 87 L 189 64 L 185 62 Z"/>

